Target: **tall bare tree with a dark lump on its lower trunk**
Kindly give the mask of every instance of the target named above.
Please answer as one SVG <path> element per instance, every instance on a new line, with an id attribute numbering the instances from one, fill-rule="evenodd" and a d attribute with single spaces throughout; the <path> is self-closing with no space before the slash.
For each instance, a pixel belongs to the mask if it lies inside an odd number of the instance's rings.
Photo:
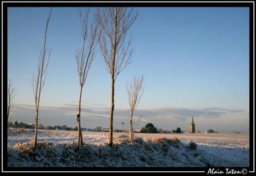
<path id="1" fill-rule="evenodd" d="M 78 97 L 78 114 L 77 123 L 78 123 L 78 140 L 77 140 L 77 150 L 81 146 L 83 147 L 82 140 L 82 130 L 81 130 L 81 99 L 82 99 L 82 90 L 85 84 L 86 78 L 88 76 L 89 69 L 91 67 L 91 63 L 95 57 L 95 47 L 99 38 L 97 37 L 97 29 L 98 23 L 97 20 L 93 20 L 90 27 L 89 26 L 89 14 L 90 8 L 84 8 L 84 12 L 82 8 L 77 10 L 77 14 L 81 21 L 82 26 L 82 38 L 83 38 L 83 47 L 82 50 L 76 50 L 75 58 L 77 63 L 77 73 L 79 78 L 79 97 Z"/>

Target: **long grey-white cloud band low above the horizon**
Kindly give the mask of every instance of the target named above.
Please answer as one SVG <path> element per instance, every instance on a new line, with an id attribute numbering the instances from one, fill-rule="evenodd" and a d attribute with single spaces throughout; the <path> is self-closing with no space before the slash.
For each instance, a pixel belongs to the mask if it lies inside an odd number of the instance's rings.
<path id="1" fill-rule="evenodd" d="M 34 121 L 34 106 L 26 104 L 15 105 L 14 119 L 30 123 Z M 136 121 L 140 115 L 143 115 L 140 126 L 146 123 L 153 123 L 157 127 L 183 127 L 187 128 L 190 124 L 190 119 L 193 116 L 195 119 L 220 119 L 224 121 L 224 116 L 238 114 L 243 112 L 243 109 L 227 109 L 219 107 L 205 108 L 152 108 L 152 109 L 135 109 L 134 120 Z M 77 107 L 75 104 L 65 104 L 64 106 L 41 106 L 40 107 L 40 123 L 45 125 L 61 125 L 76 126 Z M 129 109 L 114 110 L 114 125 L 121 128 L 121 122 L 126 124 L 129 121 Z M 109 108 L 108 107 L 82 107 L 82 124 L 87 127 L 94 128 L 95 126 L 108 126 L 109 123 Z M 20 120 L 19 120 L 20 119 Z M 249 117 L 248 117 L 249 121 Z M 207 121 L 208 122 L 208 121 Z M 200 124 L 200 123 L 199 123 Z M 93 126 L 94 125 L 94 126 Z"/>

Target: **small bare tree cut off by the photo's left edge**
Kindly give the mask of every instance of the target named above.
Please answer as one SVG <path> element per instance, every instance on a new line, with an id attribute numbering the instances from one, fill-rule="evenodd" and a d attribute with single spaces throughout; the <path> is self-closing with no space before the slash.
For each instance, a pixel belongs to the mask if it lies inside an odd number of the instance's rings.
<path id="1" fill-rule="evenodd" d="M 11 79 L 9 79 L 9 84 L 7 87 L 7 94 L 8 94 L 8 105 L 7 105 L 7 121 L 9 123 L 9 121 L 11 120 L 14 112 L 13 112 L 13 98 L 16 95 L 16 88 L 13 87 L 12 85 L 13 81 L 11 81 Z"/>

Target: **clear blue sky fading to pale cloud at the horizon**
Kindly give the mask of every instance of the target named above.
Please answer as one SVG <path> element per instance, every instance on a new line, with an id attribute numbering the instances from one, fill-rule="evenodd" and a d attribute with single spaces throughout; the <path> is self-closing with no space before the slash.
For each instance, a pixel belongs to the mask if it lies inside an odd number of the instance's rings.
<path id="1" fill-rule="evenodd" d="M 34 123 L 31 79 L 43 47 L 50 8 L 8 8 L 8 79 L 17 89 L 12 121 Z M 47 68 L 38 123 L 76 126 L 78 75 L 75 51 L 82 48 L 75 8 L 52 10 Z M 126 84 L 144 74 L 144 93 L 134 112 L 139 127 L 166 130 L 249 130 L 249 9 L 139 9 L 128 31 L 132 63 L 115 81 L 114 128 L 128 127 Z M 82 94 L 81 126 L 109 127 L 111 77 L 96 48 Z"/>

